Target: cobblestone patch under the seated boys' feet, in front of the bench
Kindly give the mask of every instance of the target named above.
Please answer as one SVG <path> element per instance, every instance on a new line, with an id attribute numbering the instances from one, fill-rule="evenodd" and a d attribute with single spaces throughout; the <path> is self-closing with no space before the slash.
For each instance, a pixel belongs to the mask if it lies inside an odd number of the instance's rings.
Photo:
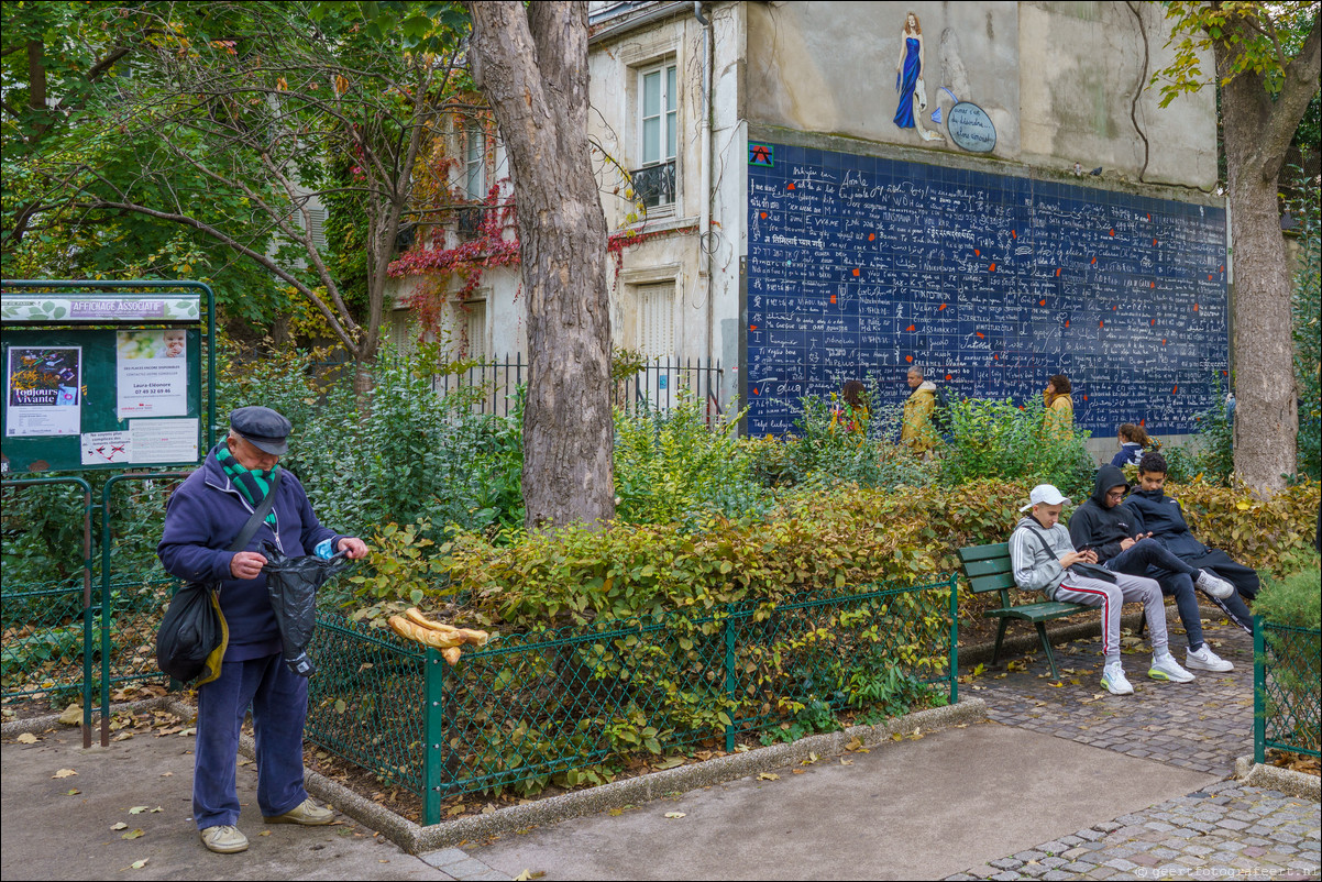
<path id="1" fill-rule="evenodd" d="M 1183 628 L 1169 607 L 1170 640 L 1183 664 Z M 1204 610 L 1204 616 L 1211 616 Z M 1192 672 L 1194 682 L 1147 678 L 1151 651 L 1146 637 L 1125 636 L 1121 651 L 1133 696 L 1112 696 L 1101 686 L 1101 639 L 1055 648 L 1060 680 L 1052 681 L 1038 652 L 1005 661 L 968 686 L 988 702 L 988 715 L 1007 726 L 1105 747 L 1140 759 L 1155 759 L 1200 772 L 1229 775 L 1235 758 L 1253 750 L 1253 639 L 1229 624 L 1204 618 L 1203 636 L 1235 662 L 1228 673 Z M 961 689 L 962 692 L 962 689 Z"/>

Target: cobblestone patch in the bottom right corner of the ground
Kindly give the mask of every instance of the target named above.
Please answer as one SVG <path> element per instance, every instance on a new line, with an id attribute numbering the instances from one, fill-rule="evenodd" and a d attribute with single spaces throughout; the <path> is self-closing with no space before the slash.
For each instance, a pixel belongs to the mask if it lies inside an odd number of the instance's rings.
<path id="1" fill-rule="evenodd" d="M 1222 782 L 948 879 L 1315 879 L 1318 805 Z"/>

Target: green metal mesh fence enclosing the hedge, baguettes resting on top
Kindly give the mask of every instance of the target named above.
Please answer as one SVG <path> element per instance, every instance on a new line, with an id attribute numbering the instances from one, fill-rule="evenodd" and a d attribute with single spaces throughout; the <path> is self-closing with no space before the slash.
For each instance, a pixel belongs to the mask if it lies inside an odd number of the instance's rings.
<path id="1" fill-rule="evenodd" d="M 952 577 L 514 635 L 451 668 L 327 615 L 307 737 L 423 797 L 435 824 L 449 796 L 599 780 L 621 756 L 699 742 L 730 751 L 906 689 L 957 701 L 956 623 Z"/>

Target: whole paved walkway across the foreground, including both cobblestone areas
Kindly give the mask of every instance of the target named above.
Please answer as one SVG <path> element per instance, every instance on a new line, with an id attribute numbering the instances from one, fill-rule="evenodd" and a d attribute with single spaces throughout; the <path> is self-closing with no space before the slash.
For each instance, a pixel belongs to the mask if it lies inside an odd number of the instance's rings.
<path id="1" fill-rule="evenodd" d="M 87 752 L 77 730 L 7 738 L 0 869 L 5 879 L 1318 878 L 1318 804 L 1225 780 L 1252 744 L 1252 644 L 1228 627 L 1208 636 L 1235 672 L 1158 684 L 1142 649 L 1126 656 L 1138 693 L 1113 697 L 1097 684 L 1099 641 L 1079 641 L 1058 648 L 1062 681 L 1030 655 L 961 685 L 992 722 L 419 857 L 349 819 L 266 829 L 250 763 L 239 788 L 253 848 L 206 853 L 188 820 L 186 730 Z M 78 774 L 56 778 L 62 768 Z"/>

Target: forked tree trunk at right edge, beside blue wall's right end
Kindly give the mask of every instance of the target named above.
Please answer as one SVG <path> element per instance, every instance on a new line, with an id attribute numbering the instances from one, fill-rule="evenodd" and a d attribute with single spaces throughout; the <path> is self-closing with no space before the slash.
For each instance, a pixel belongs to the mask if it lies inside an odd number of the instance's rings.
<path id="1" fill-rule="evenodd" d="M 1243 21 L 1232 26 L 1247 29 Z M 1231 69 L 1241 45 L 1235 34 L 1215 42 L 1219 71 Z M 1263 495 L 1282 489 L 1284 475 L 1296 469 L 1293 280 L 1277 192 L 1290 139 L 1318 89 L 1318 48 L 1314 19 L 1276 98 L 1261 74 L 1243 73 L 1222 86 L 1235 258 L 1235 472 Z"/>

